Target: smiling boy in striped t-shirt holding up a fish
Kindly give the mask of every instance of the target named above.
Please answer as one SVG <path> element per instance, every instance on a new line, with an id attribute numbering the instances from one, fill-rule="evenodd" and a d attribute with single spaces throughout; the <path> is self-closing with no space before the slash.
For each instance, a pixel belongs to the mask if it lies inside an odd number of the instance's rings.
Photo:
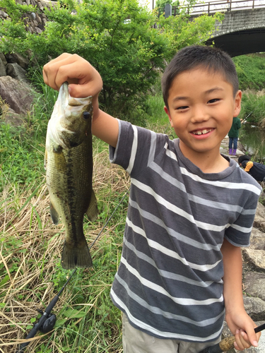
<path id="1" fill-rule="evenodd" d="M 72 96 L 93 96 L 92 132 L 131 175 L 111 289 L 124 313 L 124 353 L 199 352 L 220 341 L 224 316 L 236 349 L 257 346 L 243 305 L 240 246 L 249 244 L 261 189 L 219 152 L 242 96 L 230 57 L 193 46 L 167 66 L 163 97 L 176 140 L 102 112 L 102 80 L 80 56 L 62 54 L 43 73 L 56 90 L 67 80 Z"/>

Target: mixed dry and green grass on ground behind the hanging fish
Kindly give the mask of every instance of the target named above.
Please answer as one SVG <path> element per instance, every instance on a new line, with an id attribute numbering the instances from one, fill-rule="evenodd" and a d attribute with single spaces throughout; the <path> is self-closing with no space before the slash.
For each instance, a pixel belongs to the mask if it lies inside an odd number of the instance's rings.
<path id="1" fill-rule="evenodd" d="M 94 190 L 100 215 L 84 222 L 88 244 L 100 233 L 129 187 L 125 172 L 107 159 L 107 146 L 94 140 Z M 52 333 L 35 337 L 26 352 L 121 352 L 121 315 L 110 287 L 122 251 L 127 197 L 91 249 L 94 267 L 79 269 L 54 307 Z M 45 180 L 32 191 L 4 191 L 0 198 L 0 351 L 15 352 L 37 317 L 72 271 L 60 265 L 64 227 L 49 217 Z M 40 316 L 40 315 L 39 315 Z"/>

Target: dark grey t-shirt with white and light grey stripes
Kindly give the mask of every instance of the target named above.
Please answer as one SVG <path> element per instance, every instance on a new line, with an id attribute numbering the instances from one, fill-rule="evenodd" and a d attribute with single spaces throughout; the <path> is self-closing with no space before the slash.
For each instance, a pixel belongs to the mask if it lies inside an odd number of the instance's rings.
<path id="1" fill-rule="evenodd" d="M 178 139 L 124 121 L 110 160 L 131 175 L 112 301 L 149 335 L 216 340 L 224 318 L 220 247 L 224 238 L 249 245 L 259 184 L 233 160 L 204 174 Z"/>

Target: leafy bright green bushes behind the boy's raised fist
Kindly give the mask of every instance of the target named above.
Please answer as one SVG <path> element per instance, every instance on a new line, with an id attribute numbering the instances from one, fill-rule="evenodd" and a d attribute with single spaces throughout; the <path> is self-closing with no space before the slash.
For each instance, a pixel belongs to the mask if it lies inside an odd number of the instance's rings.
<path id="1" fill-rule="evenodd" d="M 63 52 L 83 56 L 102 76 L 102 107 L 130 121 L 143 114 L 142 102 L 165 60 L 181 47 L 204 42 L 216 20 L 201 16 L 190 21 L 185 13 L 158 18 L 136 0 L 86 0 L 83 4 L 61 0 L 45 10 L 49 22 L 45 31 L 35 35 L 18 20 L 22 7 L 15 0 L 4 0 L 4 6 L 11 20 L 0 27 L 1 51 L 25 54 L 30 49 L 33 62 L 37 60 L 40 66 Z M 33 11 L 24 10 L 24 16 Z"/>

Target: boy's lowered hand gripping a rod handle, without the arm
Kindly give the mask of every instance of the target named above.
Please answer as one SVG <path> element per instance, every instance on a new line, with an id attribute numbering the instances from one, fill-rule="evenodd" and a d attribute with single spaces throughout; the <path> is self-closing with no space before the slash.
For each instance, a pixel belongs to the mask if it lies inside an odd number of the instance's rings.
<path id="1" fill-rule="evenodd" d="M 234 317 L 232 318 L 232 316 Z M 234 315 L 226 313 L 225 319 L 231 332 L 235 335 L 235 349 L 242 351 L 251 346 L 258 346 L 261 333 L 254 332 L 257 325 L 245 310 L 242 313 L 237 311 Z"/>

